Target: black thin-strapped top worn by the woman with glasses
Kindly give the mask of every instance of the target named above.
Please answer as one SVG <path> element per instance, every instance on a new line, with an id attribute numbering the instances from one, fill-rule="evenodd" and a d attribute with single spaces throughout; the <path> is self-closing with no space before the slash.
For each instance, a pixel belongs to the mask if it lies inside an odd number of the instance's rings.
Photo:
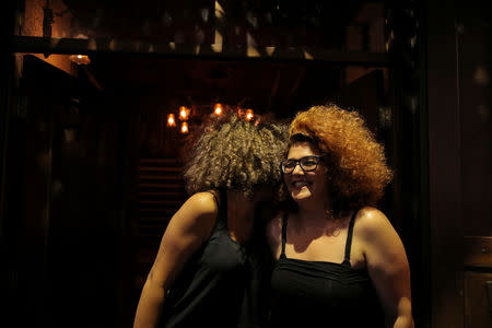
<path id="1" fill-rule="evenodd" d="M 385 327 L 366 269 L 350 265 L 355 214 L 349 224 L 342 263 L 288 258 L 288 220 L 283 218 L 282 253 L 271 277 L 271 327 Z"/>

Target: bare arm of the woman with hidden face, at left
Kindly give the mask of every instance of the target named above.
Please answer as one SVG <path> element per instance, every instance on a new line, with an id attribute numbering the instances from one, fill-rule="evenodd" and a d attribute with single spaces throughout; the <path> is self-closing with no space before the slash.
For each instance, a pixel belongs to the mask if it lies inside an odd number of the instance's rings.
<path id="1" fill-rule="evenodd" d="M 143 285 L 133 328 L 155 327 L 169 289 L 184 265 L 210 236 L 216 204 L 210 192 L 191 196 L 171 219 Z"/>

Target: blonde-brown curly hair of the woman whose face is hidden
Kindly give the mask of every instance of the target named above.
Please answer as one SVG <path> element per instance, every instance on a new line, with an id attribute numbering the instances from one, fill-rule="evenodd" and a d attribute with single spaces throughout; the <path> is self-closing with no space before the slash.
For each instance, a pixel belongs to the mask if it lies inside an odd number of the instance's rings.
<path id="1" fill-rule="evenodd" d="M 224 109 L 221 117 L 209 116 L 184 148 L 187 191 L 237 189 L 250 197 L 258 186 L 280 188 L 289 126 L 271 116 L 247 121 Z"/>

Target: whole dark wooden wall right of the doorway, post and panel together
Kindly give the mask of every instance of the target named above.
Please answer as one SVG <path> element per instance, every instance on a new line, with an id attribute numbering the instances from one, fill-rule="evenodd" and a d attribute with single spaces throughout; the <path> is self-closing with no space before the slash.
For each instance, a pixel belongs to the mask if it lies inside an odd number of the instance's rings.
<path id="1" fill-rule="evenodd" d="M 492 324 L 492 33 L 481 4 L 427 5 L 432 327 Z"/>

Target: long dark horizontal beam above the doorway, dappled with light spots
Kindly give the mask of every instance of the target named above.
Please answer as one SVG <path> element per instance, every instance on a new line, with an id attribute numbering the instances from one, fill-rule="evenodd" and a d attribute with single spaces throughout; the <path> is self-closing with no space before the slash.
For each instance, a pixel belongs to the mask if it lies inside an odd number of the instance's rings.
<path id="1" fill-rule="evenodd" d="M 138 39 L 13 37 L 14 52 L 87 55 L 120 52 L 218 60 L 319 61 L 365 67 L 388 67 L 391 65 L 390 58 L 386 52 L 335 51 L 305 47 L 276 48 L 272 51 L 270 48 L 272 47 L 256 47 L 248 50 L 245 48 L 222 47 L 218 50 L 218 47 L 214 47 L 214 45 L 147 43 Z"/>

